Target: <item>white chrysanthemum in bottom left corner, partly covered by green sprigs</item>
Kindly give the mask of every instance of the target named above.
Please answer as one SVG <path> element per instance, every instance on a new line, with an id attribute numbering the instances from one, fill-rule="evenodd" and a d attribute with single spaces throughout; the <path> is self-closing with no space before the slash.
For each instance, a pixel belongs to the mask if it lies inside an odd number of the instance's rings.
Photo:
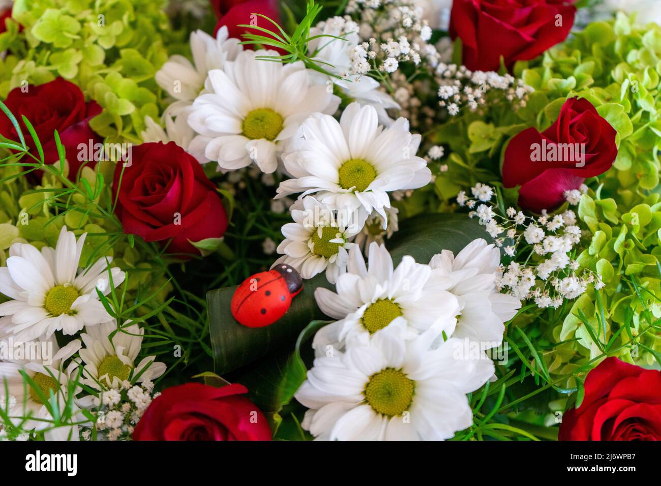
<path id="1" fill-rule="evenodd" d="M 56 354 L 52 356 L 50 364 L 0 362 L 0 395 L 14 397 L 12 400 L 14 405 L 9 409 L 9 416 L 15 425 L 20 425 L 24 430 L 40 431 L 52 426 L 53 417 L 48 407 L 44 405 L 50 399 L 51 393 L 56 397 L 60 409 L 63 409 L 67 403 L 69 379 L 76 365 L 72 362 L 64 370 L 63 364 L 79 349 L 80 343 L 72 341 L 59 349 L 56 340 L 54 338 L 51 340 Z M 28 385 L 22 373 L 26 374 L 36 387 Z M 28 416 L 30 418 L 24 420 Z M 80 419 L 84 418 L 80 417 Z M 78 440 L 78 426 L 50 430 L 46 432 L 46 440 L 67 440 L 69 434 L 71 439 Z"/>

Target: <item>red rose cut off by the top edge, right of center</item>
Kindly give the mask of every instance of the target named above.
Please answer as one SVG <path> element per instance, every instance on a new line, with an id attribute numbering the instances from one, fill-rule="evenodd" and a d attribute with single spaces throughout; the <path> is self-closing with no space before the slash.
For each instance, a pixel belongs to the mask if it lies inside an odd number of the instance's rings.
<path id="1" fill-rule="evenodd" d="M 573 0 L 455 0 L 449 34 L 461 38 L 463 64 L 471 71 L 498 71 L 534 59 L 569 34 Z"/>

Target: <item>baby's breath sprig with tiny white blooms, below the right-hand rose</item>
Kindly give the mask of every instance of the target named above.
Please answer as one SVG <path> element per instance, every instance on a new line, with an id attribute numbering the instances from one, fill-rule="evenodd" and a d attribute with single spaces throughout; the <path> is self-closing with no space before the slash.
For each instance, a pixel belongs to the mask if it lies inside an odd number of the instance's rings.
<path id="1" fill-rule="evenodd" d="M 574 246 L 582 235 L 574 211 L 533 217 L 510 207 L 503 214 L 494 188 L 478 183 L 471 194 L 459 192 L 457 203 L 471 209 L 469 216 L 478 218 L 496 245 L 512 257 L 496 280 L 500 290 L 534 300 L 541 308 L 557 309 L 565 299 L 584 294 L 590 284 L 603 288 L 601 277 L 574 259 Z"/>

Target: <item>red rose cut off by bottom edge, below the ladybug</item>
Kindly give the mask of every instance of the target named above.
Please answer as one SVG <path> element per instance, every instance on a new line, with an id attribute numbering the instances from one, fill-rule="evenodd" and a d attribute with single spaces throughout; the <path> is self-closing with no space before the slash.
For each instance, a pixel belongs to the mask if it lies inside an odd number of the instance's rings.
<path id="1" fill-rule="evenodd" d="M 271 440 L 264 414 L 243 385 L 187 383 L 163 391 L 145 410 L 133 440 Z"/>

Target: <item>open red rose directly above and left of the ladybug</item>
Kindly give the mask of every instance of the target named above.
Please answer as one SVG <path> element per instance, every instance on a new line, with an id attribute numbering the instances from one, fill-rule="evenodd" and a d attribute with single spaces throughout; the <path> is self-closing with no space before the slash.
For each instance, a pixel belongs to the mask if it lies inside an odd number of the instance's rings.
<path id="1" fill-rule="evenodd" d="M 132 147 L 118 163 L 112 188 L 125 233 L 145 241 L 171 239 L 168 253 L 197 253 L 190 244 L 219 238 L 227 229 L 220 196 L 200 163 L 175 142 Z M 121 184 L 120 184 L 121 178 Z"/>

